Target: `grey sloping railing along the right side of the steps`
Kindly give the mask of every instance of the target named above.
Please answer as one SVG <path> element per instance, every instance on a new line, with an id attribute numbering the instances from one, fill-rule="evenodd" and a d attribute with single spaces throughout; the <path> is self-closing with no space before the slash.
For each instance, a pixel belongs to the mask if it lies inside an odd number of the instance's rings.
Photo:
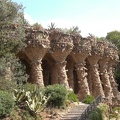
<path id="1" fill-rule="evenodd" d="M 102 101 L 102 96 L 99 95 L 92 104 L 90 104 L 81 114 L 81 116 L 77 119 L 77 120 L 87 120 L 88 119 L 88 115 L 96 109 L 96 107 L 98 106 L 98 104 Z"/>

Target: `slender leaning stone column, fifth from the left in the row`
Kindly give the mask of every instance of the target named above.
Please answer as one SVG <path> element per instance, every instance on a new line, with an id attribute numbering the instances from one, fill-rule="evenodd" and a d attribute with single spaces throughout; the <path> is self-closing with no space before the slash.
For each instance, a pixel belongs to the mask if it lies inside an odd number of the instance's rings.
<path id="1" fill-rule="evenodd" d="M 113 97 L 113 92 L 112 92 L 112 87 L 108 75 L 108 61 L 110 60 L 110 52 L 111 49 L 109 49 L 109 43 L 107 41 L 102 41 L 104 44 L 104 54 L 102 58 L 99 60 L 99 66 L 100 66 L 100 77 L 101 81 L 103 83 L 103 88 L 104 88 L 104 94 L 105 97 L 109 98 L 109 100 L 112 100 Z"/>

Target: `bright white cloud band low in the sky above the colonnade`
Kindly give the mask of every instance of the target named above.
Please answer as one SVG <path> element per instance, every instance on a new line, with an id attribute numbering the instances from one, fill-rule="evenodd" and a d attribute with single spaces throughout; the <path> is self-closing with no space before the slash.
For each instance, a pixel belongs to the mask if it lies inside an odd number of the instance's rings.
<path id="1" fill-rule="evenodd" d="M 47 28 L 50 23 L 55 23 L 56 27 L 58 28 L 70 28 L 72 26 L 78 26 L 81 30 L 81 35 L 83 37 L 88 36 L 88 33 L 94 34 L 98 37 L 105 37 L 108 32 L 113 30 L 120 29 L 120 22 L 119 20 L 115 19 L 87 19 L 87 20 L 80 20 L 80 21 L 71 21 L 71 20 L 64 20 L 64 19 L 51 19 L 48 21 L 40 21 L 34 20 L 30 15 L 25 13 L 25 18 L 28 20 L 30 24 L 34 24 L 36 22 L 40 23 L 43 27 Z"/>

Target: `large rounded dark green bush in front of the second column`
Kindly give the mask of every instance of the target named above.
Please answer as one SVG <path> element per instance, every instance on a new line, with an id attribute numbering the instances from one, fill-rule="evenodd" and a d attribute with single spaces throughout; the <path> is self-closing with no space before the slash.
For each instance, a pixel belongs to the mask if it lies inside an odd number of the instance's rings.
<path id="1" fill-rule="evenodd" d="M 65 104 L 67 99 L 67 89 L 59 84 L 49 85 L 45 89 L 45 95 L 49 98 L 48 105 L 52 107 L 60 107 Z"/>

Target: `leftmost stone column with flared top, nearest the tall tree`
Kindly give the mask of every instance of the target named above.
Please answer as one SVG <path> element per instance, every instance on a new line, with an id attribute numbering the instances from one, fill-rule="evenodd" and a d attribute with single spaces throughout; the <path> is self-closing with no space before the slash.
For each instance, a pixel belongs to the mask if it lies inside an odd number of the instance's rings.
<path id="1" fill-rule="evenodd" d="M 45 31 L 28 29 L 26 31 L 27 47 L 24 52 L 31 61 L 30 82 L 44 86 L 42 74 L 42 58 L 49 49 L 50 42 Z"/>

